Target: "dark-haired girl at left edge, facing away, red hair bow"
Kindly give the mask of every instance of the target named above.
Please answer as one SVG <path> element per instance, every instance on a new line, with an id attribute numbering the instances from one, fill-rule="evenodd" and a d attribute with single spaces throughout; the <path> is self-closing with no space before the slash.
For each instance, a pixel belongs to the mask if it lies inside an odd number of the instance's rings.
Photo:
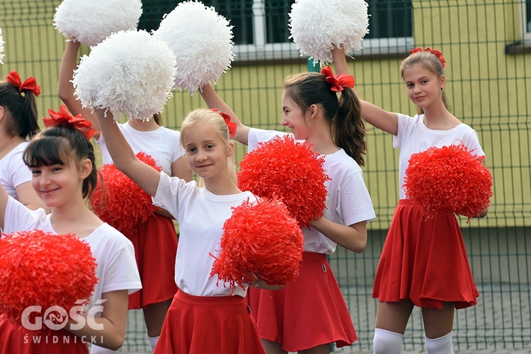
<path id="1" fill-rule="evenodd" d="M 24 82 L 13 71 L 0 81 L 0 184 L 11 197 L 36 210 L 47 209 L 31 187 L 31 172 L 22 154 L 40 130 L 35 97 L 40 86 L 34 77 Z"/>

